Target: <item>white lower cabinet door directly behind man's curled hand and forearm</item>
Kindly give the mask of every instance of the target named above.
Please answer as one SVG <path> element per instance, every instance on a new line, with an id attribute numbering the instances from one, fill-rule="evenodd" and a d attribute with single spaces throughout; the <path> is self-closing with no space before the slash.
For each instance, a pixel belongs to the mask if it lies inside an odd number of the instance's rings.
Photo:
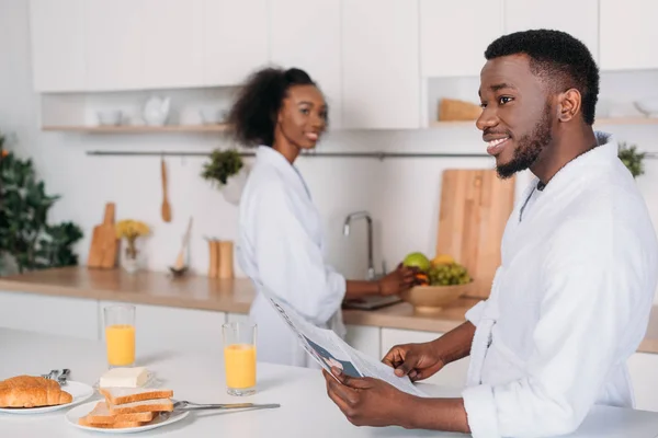
<path id="1" fill-rule="evenodd" d="M 384 357 L 390 350 L 390 348 L 396 345 L 427 343 L 434 341 L 441 335 L 442 333 L 382 328 L 382 357 Z M 461 360 L 449 364 L 434 376 L 422 380 L 422 382 L 460 389 L 464 388 L 466 384 L 466 374 L 470 358 L 465 357 Z"/>

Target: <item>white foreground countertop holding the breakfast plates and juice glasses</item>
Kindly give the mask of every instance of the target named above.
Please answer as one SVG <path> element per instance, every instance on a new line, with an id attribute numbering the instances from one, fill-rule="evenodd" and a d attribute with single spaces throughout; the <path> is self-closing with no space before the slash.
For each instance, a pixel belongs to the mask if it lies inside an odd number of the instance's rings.
<path id="1" fill-rule="evenodd" d="M 208 335 L 204 355 L 181 354 L 163 346 L 137 346 L 137 365 L 156 371 L 162 387 L 178 400 L 198 403 L 280 403 L 265 411 L 192 412 L 175 424 L 138 436 L 161 437 L 464 437 L 351 425 L 329 400 L 325 380 L 317 370 L 259 364 L 258 394 L 231 397 L 224 385 L 220 337 Z M 70 368 L 71 380 L 93 384 L 105 370 L 105 350 L 100 342 L 45 336 L 0 328 L 0 380 L 54 368 Z M 427 389 L 427 387 L 424 388 Z M 432 388 L 438 396 L 454 396 L 454 389 Z M 94 396 L 90 400 L 99 399 Z M 66 410 L 36 416 L 0 413 L 0 437 L 93 437 L 95 433 L 69 425 Z M 103 434 L 104 435 L 104 434 Z M 134 436 L 134 435 L 129 435 Z M 572 438 L 656 438 L 658 413 L 595 407 Z"/>

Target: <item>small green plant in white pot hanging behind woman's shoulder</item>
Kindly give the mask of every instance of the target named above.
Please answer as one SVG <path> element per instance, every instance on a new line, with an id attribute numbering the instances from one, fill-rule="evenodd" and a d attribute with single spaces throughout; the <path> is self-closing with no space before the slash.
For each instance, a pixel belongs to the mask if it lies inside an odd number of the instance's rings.
<path id="1" fill-rule="evenodd" d="M 201 177 L 218 187 L 230 204 L 240 201 L 242 188 L 247 183 L 247 168 L 242 157 L 235 149 L 214 150 L 208 162 L 204 163 Z"/>

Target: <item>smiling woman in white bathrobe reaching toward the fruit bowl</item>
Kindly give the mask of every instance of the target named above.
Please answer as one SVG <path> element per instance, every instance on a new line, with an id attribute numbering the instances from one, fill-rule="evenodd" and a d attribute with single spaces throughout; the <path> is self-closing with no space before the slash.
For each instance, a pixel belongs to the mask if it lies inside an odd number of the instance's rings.
<path id="1" fill-rule="evenodd" d="M 400 266 L 381 280 L 354 281 L 325 263 L 320 217 L 294 165 L 302 150 L 315 148 L 327 126 L 327 104 L 306 72 L 256 72 L 228 123 L 239 143 L 257 147 L 240 199 L 237 244 L 238 263 L 257 289 L 263 285 L 315 325 L 342 337 L 343 299 L 394 295 L 413 284 L 413 270 Z M 317 367 L 260 291 L 250 316 L 259 326 L 259 360 Z"/>

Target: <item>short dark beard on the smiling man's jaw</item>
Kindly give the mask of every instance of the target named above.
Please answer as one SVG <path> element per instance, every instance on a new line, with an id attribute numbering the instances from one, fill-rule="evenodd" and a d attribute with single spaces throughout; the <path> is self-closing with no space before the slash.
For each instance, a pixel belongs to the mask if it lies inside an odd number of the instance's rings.
<path id="1" fill-rule="evenodd" d="M 551 105 L 546 103 L 544 114 L 532 129 L 532 132 L 519 139 L 512 160 L 496 166 L 498 176 L 506 180 L 517 172 L 529 169 L 537 160 L 544 148 L 553 141 L 552 125 Z"/>

